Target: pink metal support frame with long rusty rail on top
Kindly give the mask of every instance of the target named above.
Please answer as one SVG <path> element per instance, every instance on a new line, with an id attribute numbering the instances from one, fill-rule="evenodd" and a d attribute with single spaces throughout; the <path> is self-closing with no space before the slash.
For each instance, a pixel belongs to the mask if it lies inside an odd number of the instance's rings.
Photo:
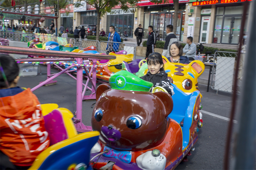
<path id="1" fill-rule="evenodd" d="M 23 55 L 33 55 L 33 56 L 46 56 L 46 57 L 58 57 L 58 58 L 32 58 L 32 59 L 22 59 L 22 61 L 56 61 L 57 59 L 60 60 L 60 57 L 66 58 L 70 61 L 70 58 L 76 58 L 77 64 L 82 64 L 83 59 L 93 60 L 93 65 L 96 65 L 97 60 L 99 59 L 115 59 L 116 57 L 113 55 L 103 55 L 103 54 L 89 54 L 89 53 L 74 53 L 74 52 L 63 52 L 63 51 L 51 51 L 51 50 L 41 50 L 41 49 L 33 49 L 33 48 L 22 48 L 22 47 L 10 47 L 10 46 L 0 46 L 0 53 L 9 53 L 9 54 L 23 54 Z M 61 60 L 64 60 L 61 58 Z M 19 59 L 21 61 L 21 59 Z M 34 91 L 35 89 L 43 86 L 44 84 L 50 82 L 54 78 L 58 77 L 59 75 L 65 73 L 70 68 L 75 67 L 76 65 L 70 65 L 68 68 L 63 69 L 59 73 L 55 74 L 54 76 L 48 78 L 43 83 L 40 83 L 38 86 L 31 89 Z M 82 82 L 83 82 L 83 67 L 77 67 L 77 118 L 81 120 L 81 122 L 76 124 L 76 128 L 80 132 L 86 132 L 92 130 L 90 126 L 85 126 L 82 123 L 82 100 L 84 99 L 82 96 Z M 91 97 L 95 99 L 95 86 L 96 86 L 96 67 L 92 67 L 92 80 L 91 80 L 91 71 L 90 74 L 87 74 L 87 78 L 92 83 L 92 94 Z M 49 70 L 50 71 L 50 70 Z M 50 72 L 47 72 L 47 75 L 50 75 Z M 87 72 L 88 73 L 88 72 Z M 69 74 L 67 72 L 67 74 Z M 89 89 L 89 87 L 87 87 Z M 88 96 L 89 97 L 89 96 Z M 86 98 L 89 99 L 87 96 Z"/>

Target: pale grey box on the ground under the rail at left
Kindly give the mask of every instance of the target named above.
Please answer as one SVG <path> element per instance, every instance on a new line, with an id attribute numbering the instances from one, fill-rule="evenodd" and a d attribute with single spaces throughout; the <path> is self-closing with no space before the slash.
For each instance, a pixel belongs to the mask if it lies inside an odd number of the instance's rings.
<path id="1" fill-rule="evenodd" d="M 38 64 L 18 64 L 19 76 L 36 76 Z"/>

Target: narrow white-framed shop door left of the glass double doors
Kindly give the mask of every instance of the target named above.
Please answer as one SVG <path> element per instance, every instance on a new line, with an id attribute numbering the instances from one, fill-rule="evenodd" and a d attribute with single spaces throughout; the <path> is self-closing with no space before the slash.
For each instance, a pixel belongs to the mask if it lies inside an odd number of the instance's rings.
<path id="1" fill-rule="evenodd" d="M 202 17 L 199 42 L 208 43 L 209 29 L 210 29 L 210 17 Z"/>

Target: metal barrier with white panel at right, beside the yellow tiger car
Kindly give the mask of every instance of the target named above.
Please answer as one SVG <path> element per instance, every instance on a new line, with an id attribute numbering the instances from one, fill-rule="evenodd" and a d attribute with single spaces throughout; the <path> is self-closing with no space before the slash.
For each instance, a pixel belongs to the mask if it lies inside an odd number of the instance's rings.
<path id="1" fill-rule="evenodd" d="M 233 93 L 235 78 L 238 79 L 238 94 L 241 93 L 241 83 L 243 75 L 243 59 L 245 54 L 241 53 L 241 60 L 237 66 L 237 52 L 216 51 L 214 61 L 216 65 L 212 67 L 211 88 L 213 90 Z M 239 67 L 238 77 L 234 77 L 236 67 Z"/>

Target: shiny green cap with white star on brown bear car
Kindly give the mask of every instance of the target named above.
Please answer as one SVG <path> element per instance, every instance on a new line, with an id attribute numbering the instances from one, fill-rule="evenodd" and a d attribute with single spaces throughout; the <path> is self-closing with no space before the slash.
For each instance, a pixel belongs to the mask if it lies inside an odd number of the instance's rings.
<path id="1" fill-rule="evenodd" d="M 109 78 L 109 83 L 111 89 L 117 90 L 149 91 L 153 87 L 153 83 L 142 80 L 125 70 L 113 74 Z"/>

